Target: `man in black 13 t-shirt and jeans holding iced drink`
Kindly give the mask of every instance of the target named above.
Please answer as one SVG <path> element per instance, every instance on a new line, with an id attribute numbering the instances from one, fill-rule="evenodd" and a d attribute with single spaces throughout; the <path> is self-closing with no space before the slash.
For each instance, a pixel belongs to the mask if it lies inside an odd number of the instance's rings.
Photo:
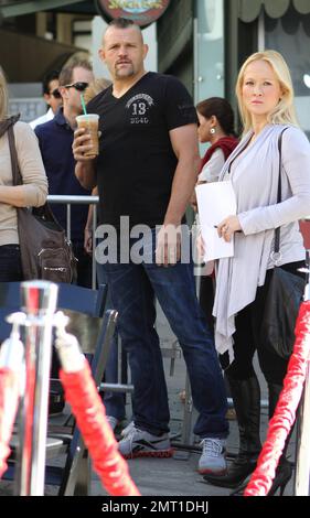
<path id="1" fill-rule="evenodd" d="M 108 259 L 105 265 L 135 386 L 133 425 L 119 451 L 127 458 L 172 453 L 167 386 L 154 330 L 156 296 L 183 349 L 200 412 L 194 428 L 203 445 L 199 470 L 221 474 L 226 471 L 228 433 L 225 388 L 196 300 L 192 263 L 180 260 L 175 234 L 197 176 L 196 116 L 178 79 L 146 73 L 147 51 L 137 25 L 124 19 L 110 23 L 99 54 L 113 85 L 87 106 L 88 112 L 100 116 L 99 155 L 85 158 L 92 147 L 83 130 L 75 132 L 73 144 L 77 179 L 88 188 L 98 185 L 104 228 L 114 228 L 116 244 L 128 240 L 130 248 L 130 257 L 118 252 L 116 261 Z M 140 262 L 137 225 L 145 225 L 151 236 L 141 240 L 145 256 Z"/>

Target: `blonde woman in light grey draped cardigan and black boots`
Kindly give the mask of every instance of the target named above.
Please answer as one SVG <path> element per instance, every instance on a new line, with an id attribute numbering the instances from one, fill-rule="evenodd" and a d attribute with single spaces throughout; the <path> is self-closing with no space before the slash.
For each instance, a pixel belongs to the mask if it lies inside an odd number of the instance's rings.
<path id="1" fill-rule="evenodd" d="M 231 180 L 237 215 L 218 224 L 218 235 L 234 239 L 233 258 L 221 259 L 213 314 L 215 343 L 231 385 L 239 427 L 239 453 L 224 476 L 205 476 L 212 484 L 235 487 L 255 468 L 260 452 L 260 390 L 253 368 L 257 350 L 268 384 L 269 417 L 274 414 L 287 360 L 267 350 L 260 325 L 270 274 L 275 229 L 280 227 L 279 266 L 295 274 L 304 265 L 298 220 L 310 207 L 310 144 L 299 129 L 288 66 L 275 51 L 253 54 L 244 63 L 236 95 L 244 136 L 225 163 L 220 181 Z M 277 203 L 282 130 L 281 203 Z M 285 453 L 270 489 L 284 492 L 291 476 Z"/>

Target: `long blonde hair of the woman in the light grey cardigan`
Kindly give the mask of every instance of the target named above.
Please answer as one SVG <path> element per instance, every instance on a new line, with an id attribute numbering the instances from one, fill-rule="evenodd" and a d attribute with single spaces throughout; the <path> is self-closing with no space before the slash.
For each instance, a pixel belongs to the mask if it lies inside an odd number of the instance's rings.
<path id="1" fill-rule="evenodd" d="M 244 125 L 244 133 L 252 129 L 252 117 L 243 100 L 243 83 L 247 66 L 256 61 L 265 61 L 271 66 L 282 91 L 278 105 L 268 115 L 268 122 L 271 125 L 299 126 L 293 106 L 293 86 L 288 65 L 281 54 L 279 54 L 278 52 L 264 51 L 252 54 L 245 61 L 239 71 L 236 83 L 236 96 L 238 99 L 239 112 Z"/>

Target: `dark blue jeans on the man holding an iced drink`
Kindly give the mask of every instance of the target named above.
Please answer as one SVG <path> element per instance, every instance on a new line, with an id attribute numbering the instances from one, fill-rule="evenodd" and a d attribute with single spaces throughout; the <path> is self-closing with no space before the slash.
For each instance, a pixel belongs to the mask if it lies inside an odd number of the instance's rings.
<path id="1" fill-rule="evenodd" d="M 130 240 L 131 246 L 135 242 L 137 239 Z M 225 438 L 225 387 L 214 341 L 196 299 L 193 265 L 158 267 L 154 239 L 150 253 L 153 260 L 141 265 L 105 266 L 113 306 L 119 313 L 121 343 L 129 356 L 135 424 L 153 434 L 169 431 L 168 392 L 154 328 L 156 296 L 183 350 L 193 403 L 199 411 L 194 433 L 201 438 Z"/>

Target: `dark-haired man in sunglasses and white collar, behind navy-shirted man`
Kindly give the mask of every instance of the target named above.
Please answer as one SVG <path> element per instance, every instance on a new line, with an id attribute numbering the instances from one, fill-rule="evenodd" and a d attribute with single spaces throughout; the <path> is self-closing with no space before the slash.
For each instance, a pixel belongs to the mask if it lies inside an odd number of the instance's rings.
<path id="1" fill-rule="evenodd" d="M 43 98 L 49 106 L 49 110 L 46 114 L 38 117 L 36 119 L 30 122 L 32 129 L 34 129 L 39 125 L 44 125 L 44 122 L 49 122 L 54 118 L 58 107 L 62 104 L 62 96 L 58 90 L 60 86 L 60 72 L 58 71 L 51 71 L 49 74 L 45 75 L 43 79 Z"/>

